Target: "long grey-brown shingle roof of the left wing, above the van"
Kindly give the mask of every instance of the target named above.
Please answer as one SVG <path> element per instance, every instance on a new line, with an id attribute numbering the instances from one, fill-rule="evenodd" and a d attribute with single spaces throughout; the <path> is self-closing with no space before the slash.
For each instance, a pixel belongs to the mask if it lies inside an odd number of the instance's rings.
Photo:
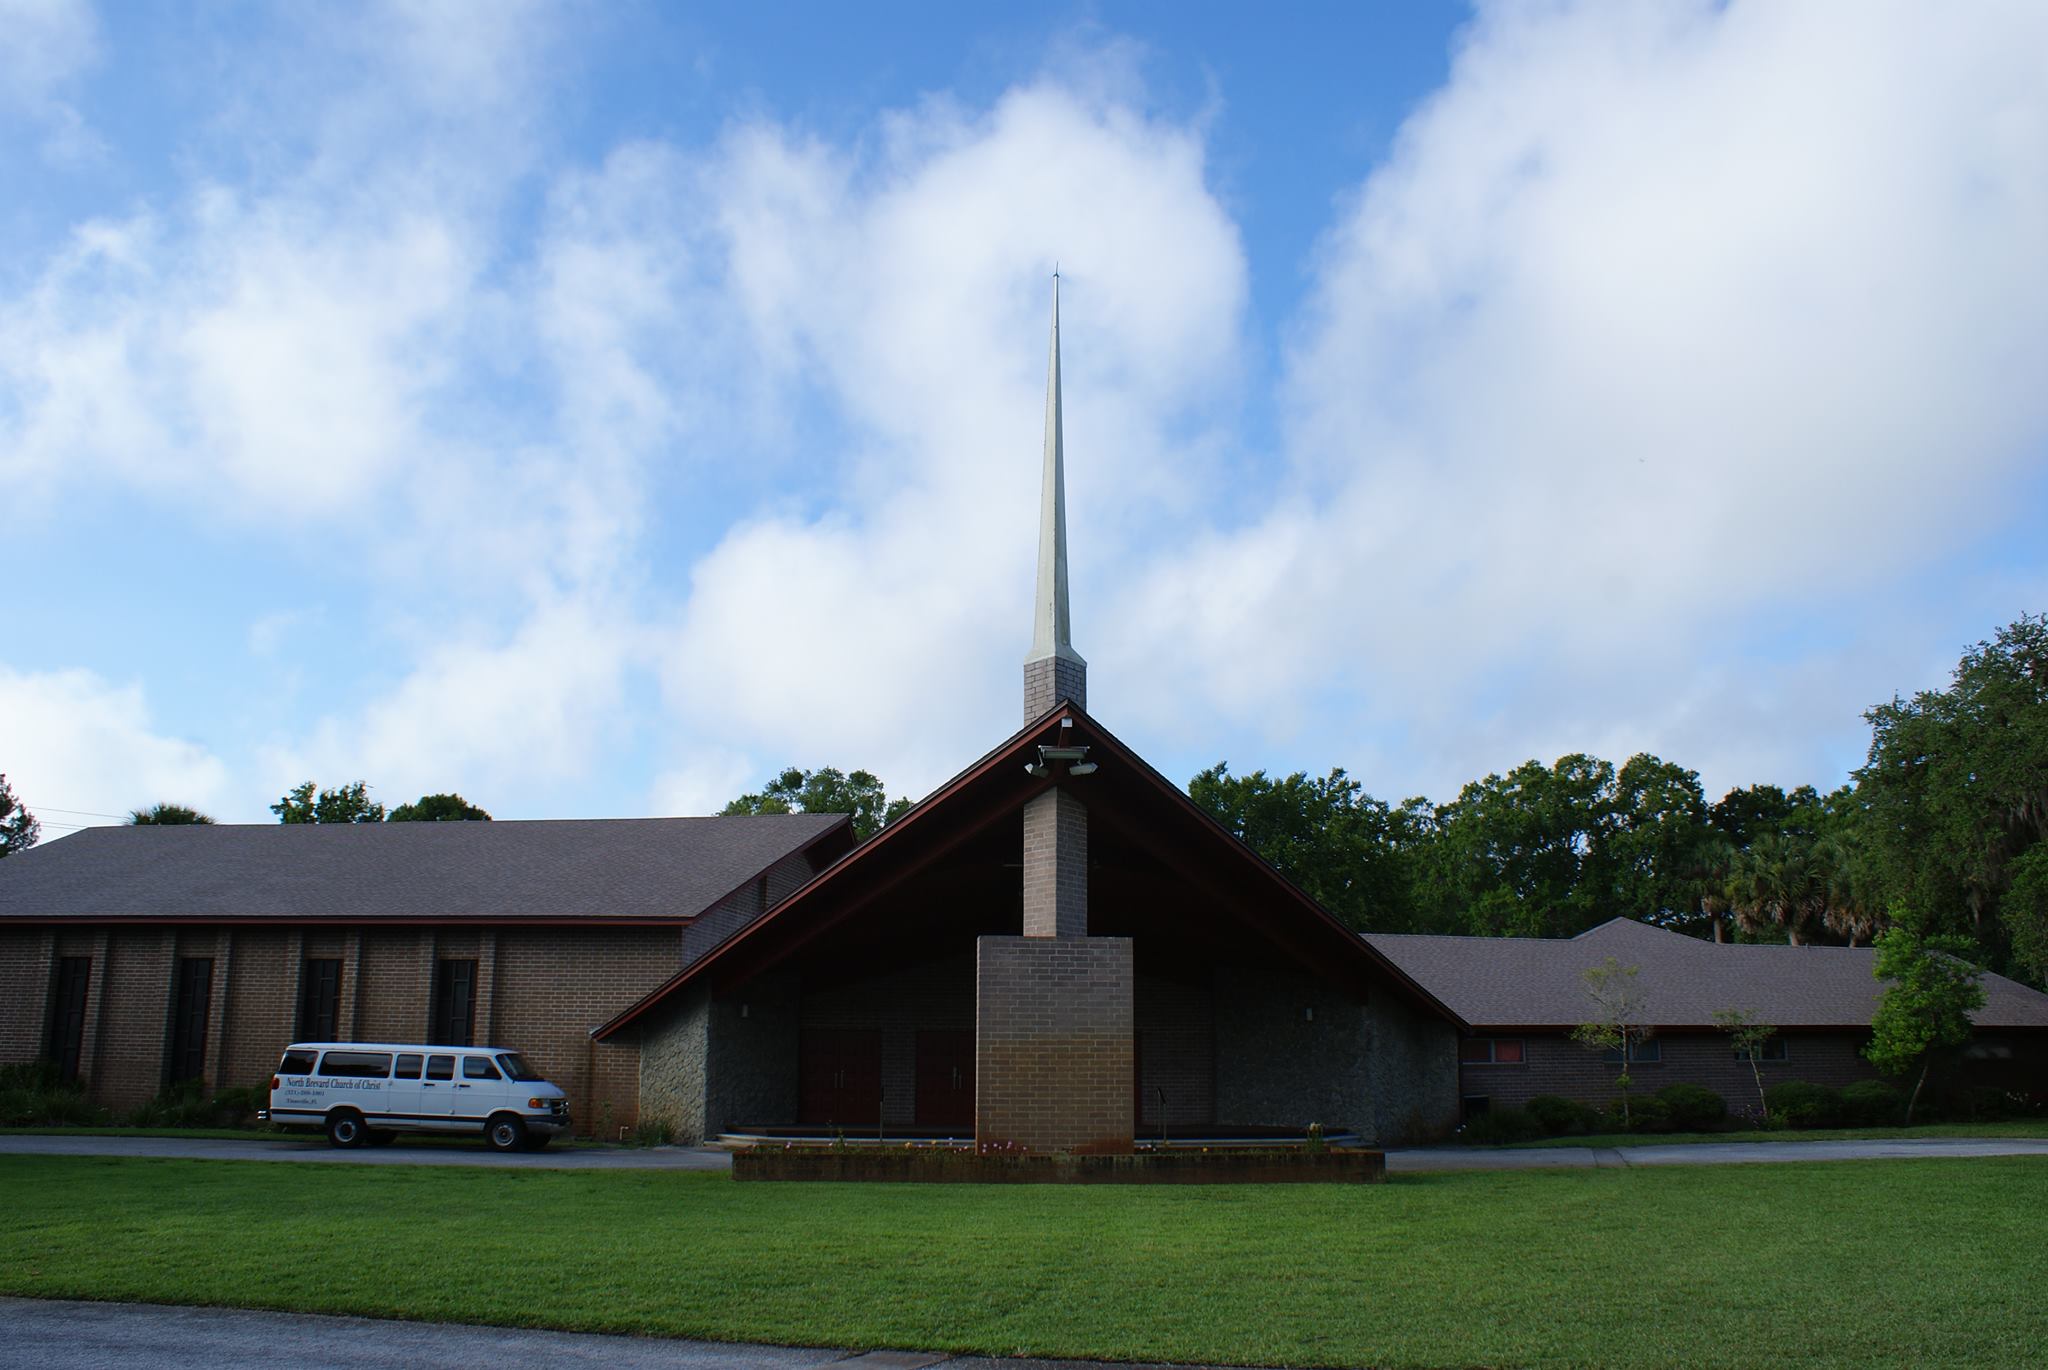
<path id="1" fill-rule="evenodd" d="M 0 919 L 692 917 L 838 813 L 86 827 L 0 862 Z"/>

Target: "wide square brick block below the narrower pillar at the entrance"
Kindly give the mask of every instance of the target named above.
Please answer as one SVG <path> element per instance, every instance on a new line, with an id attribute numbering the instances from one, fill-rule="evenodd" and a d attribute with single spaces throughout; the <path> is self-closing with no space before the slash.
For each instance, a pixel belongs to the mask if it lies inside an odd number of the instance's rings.
<path id="1" fill-rule="evenodd" d="M 1130 1151 L 1133 979 L 1130 938 L 977 940 L 981 1145 Z"/>

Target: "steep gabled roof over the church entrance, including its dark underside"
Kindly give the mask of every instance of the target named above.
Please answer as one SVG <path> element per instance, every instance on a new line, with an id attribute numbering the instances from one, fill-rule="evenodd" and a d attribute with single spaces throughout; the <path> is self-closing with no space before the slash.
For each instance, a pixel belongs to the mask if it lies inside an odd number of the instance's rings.
<path id="1" fill-rule="evenodd" d="M 1063 721 L 1071 721 L 1071 727 L 1063 729 Z M 1085 778 L 1026 774 L 1024 766 L 1036 760 L 1038 745 L 1055 739 L 1063 745 L 1087 745 L 1087 760 L 1096 762 L 1098 770 Z M 821 870 L 766 915 L 690 962 L 633 1008 L 594 1028 L 592 1036 L 600 1040 L 612 1036 L 686 985 L 700 981 L 729 985 L 782 965 L 803 946 L 862 915 L 905 881 L 932 868 L 948 852 L 985 838 L 997 823 L 1020 821 L 1030 799 L 1061 782 L 1069 784 L 1087 807 L 1092 850 L 1094 833 L 1100 831 L 1153 852 L 1178 868 L 1194 864 L 1202 889 L 1217 901 L 1255 909 L 1255 915 L 1237 924 L 1235 936 L 1245 954 L 1270 950 L 1313 975 L 1370 979 L 1427 1014 L 1458 1022 L 1438 997 L 1266 864 L 1085 709 L 1061 702 Z M 1092 924 L 1100 926 L 1102 917 L 1104 909 L 1096 905 L 1090 913 Z"/>

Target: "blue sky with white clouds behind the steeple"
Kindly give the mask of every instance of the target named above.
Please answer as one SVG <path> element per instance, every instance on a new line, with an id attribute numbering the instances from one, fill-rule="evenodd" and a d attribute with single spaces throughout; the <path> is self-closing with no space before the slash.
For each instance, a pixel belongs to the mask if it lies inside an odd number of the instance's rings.
<path id="1" fill-rule="evenodd" d="M 1835 784 L 2048 606 L 2034 4 L 0 0 L 0 770 Z"/>

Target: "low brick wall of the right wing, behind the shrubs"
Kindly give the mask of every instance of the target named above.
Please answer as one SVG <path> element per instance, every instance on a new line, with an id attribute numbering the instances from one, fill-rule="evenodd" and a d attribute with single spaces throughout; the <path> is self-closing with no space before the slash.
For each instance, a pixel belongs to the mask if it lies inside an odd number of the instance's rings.
<path id="1" fill-rule="evenodd" d="M 1473 1034 L 1483 1036 L 1483 1034 Z M 1845 1085 L 1874 1079 L 1876 1069 L 1860 1055 L 1868 1032 L 1782 1032 L 1786 1061 L 1761 1061 L 1763 1085 L 1804 1079 L 1817 1085 Z M 1614 1077 L 1620 1067 L 1602 1053 L 1581 1046 L 1563 1032 L 1534 1034 L 1524 1042 L 1524 1065 L 1460 1065 L 1458 1094 L 1489 1098 L 1493 1108 L 1522 1108 L 1538 1094 L 1604 1106 L 1620 1098 Z M 1757 1085 L 1747 1061 L 1737 1061 L 1720 1032 L 1665 1032 L 1657 1036 L 1661 1061 L 1636 1061 L 1630 1071 L 1634 1094 L 1655 1094 L 1665 1085 L 1706 1085 L 1729 1100 L 1731 1110 L 1757 1108 Z"/>

